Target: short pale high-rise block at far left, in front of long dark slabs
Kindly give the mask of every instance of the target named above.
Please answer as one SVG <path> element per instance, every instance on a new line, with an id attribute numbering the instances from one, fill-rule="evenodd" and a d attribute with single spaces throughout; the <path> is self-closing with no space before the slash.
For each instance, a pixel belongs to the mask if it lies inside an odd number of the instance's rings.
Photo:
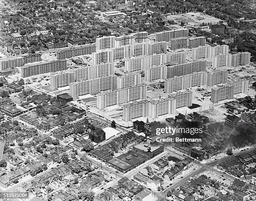
<path id="1" fill-rule="evenodd" d="M 62 71 L 50 75 L 50 84 L 52 89 L 69 86 L 69 83 L 74 81 L 74 72 L 72 71 Z"/>

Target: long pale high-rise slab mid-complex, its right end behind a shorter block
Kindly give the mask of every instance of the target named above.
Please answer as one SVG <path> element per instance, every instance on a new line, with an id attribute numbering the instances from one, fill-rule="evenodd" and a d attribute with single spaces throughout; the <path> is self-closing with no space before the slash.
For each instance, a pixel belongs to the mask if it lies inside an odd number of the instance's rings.
<path id="1" fill-rule="evenodd" d="M 138 56 L 125 60 L 125 71 L 131 73 L 133 71 L 141 71 L 145 68 L 161 65 L 166 63 L 166 54 Z"/>

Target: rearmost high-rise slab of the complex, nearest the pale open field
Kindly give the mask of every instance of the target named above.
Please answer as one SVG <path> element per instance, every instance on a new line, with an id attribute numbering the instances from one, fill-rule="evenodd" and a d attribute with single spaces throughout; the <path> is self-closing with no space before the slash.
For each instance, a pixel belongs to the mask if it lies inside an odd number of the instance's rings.
<path id="1" fill-rule="evenodd" d="M 156 33 L 156 41 L 166 41 L 169 42 L 172 38 L 188 37 L 188 29 L 181 28 L 170 31 L 163 31 Z"/>

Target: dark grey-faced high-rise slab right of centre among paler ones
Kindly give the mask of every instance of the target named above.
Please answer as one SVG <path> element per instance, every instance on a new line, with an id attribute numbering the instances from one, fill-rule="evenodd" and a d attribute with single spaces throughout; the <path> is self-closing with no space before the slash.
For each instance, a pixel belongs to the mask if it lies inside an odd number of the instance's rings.
<path id="1" fill-rule="evenodd" d="M 174 76 L 182 76 L 191 74 L 193 72 L 205 71 L 206 69 L 206 61 L 198 60 L 191 61 L 184 64 L 166 64 L 166 78 L 172 78 Z"/>

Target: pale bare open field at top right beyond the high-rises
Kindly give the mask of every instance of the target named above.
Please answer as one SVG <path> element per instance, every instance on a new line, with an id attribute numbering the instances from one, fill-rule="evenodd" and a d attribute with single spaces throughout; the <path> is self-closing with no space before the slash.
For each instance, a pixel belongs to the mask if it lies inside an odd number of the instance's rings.
<path id="1" fill-rule="evenodd" d="M 199 26 L 202 23 L 212 23 L 217 24 L 220 19 L 214 18 L 210 15 L 206 15 L 204 13 L 180 13 L 176 15 L 169 15 L 167 16 L 167 20 L 174 20 L 175 22 L 180 23 L 183 21 L 185 24 L 190 26 Z"/>

